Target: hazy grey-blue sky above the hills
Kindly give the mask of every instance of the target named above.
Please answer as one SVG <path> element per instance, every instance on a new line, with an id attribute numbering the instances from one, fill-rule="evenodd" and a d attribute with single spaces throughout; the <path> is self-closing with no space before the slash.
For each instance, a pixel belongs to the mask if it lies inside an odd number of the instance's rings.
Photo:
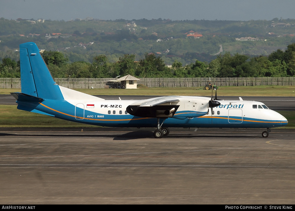
<path id="1" fill-rule="evenodd" d="M 6 19 L 295 19 L 294 0 L 0 0 Z M 1 29 L 0 29 L 1 30 Z"/>

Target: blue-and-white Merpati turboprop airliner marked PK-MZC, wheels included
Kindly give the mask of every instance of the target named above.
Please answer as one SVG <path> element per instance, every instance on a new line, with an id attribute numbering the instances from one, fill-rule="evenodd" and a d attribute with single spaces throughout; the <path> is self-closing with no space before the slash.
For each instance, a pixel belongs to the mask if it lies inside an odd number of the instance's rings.
<path id="1" fill-rule="evenodd" d="M 213 100 L 212 96 L 165 96 L 146 100 L 104 100 L 54 82 L 35 43 L 20 45 L 22 92 L 11 93 L 17 108 L 59 119 L 107 127 L 156 128 L 155 138 L 169 128 L 267 128 L 287 119 L 263 103 Z"/>

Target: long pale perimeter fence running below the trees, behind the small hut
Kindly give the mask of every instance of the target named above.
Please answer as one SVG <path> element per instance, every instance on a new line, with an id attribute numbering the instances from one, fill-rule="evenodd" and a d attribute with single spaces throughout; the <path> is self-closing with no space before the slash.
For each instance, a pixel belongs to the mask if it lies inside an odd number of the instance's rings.
<path id="1" fill-rule="evenodd" d="M 55 82 L 70 89 L 106 88 L 106 83 L 116 78 L 55 78 Z M 208 81 L 217 86 L 294 86 L 295 77 L 264 78 L 138 78 L 137 84 L 147 87 L 204 87 Z M 0 88 L 21 88 L 20 78 L 0 78 Z"/>

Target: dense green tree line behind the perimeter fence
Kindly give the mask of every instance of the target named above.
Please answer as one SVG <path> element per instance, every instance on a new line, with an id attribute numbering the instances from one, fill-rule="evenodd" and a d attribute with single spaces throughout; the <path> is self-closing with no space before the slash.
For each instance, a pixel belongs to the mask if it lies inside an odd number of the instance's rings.
<path id="1" fill-rule="evenodd" d="M 207 62 L 196 60 L 183 65 L 174 61 L 166 66 L 160 56 L 145 53 L 135 61 L 135 54 L 124 54 L 119 61 L 111 62 L 104 54 L 97 55 L 93 62 L 68 62 L 68 57 L 58 51 L 41 53 L 54 78 L 114 78 L 130 74 L 135 77 L 293 77 L 295 75 L 295 43 L 286 51 L 278 49 L 269 56 L 249 57 L 226 52 Z M 0 77 L 20 77 L 20 62 L 2 59 Z"/>

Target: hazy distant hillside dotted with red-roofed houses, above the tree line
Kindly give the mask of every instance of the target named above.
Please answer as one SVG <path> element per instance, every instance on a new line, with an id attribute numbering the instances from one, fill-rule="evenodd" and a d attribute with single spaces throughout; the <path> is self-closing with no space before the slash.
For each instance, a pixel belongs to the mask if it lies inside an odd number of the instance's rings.
<path id="1" fill-rule="evenodd" d="M 63 52 L 69 61 L 92 62 L 95 55 L 118 61 L 135 54 L 160 56 L 166 65 L 207 61 L 230 52 L 251 57 L 286 50 L 295 42 L 295 20 L 97 20 L 0 19 L 0 59 L 17 59 L 18 46 L 35 42 L 41 49 Z M 220 47 L 222 46 L 222 48 Z M 222 49 L 222 51 L 220 51 Z"/>

